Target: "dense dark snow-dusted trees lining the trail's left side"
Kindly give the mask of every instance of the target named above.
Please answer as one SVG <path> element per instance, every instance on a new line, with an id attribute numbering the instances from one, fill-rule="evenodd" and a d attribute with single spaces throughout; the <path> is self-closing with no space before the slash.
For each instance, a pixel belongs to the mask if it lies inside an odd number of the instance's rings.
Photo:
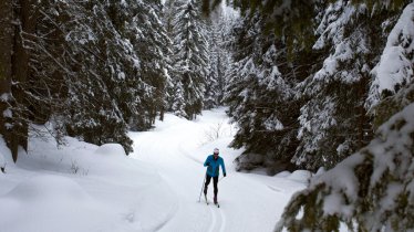
<path id="1" fill-rule="evenodd" d="M 195 118 L 217 78 L 197 1 L 13 0 L 1 11 L 0 134 L 14 161 L 29 127 L 45 123 L 60 144 L 69 135 L 131 152 L 128 130 L 166 110 Z"/>

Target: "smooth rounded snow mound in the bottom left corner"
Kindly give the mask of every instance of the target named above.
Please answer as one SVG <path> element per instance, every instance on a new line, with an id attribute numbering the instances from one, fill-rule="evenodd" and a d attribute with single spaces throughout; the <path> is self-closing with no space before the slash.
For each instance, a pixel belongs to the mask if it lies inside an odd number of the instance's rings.
<path id="1" fill-rule="evenodd" d="M 20 182 L 0 198 L 2 231 L 111 231 L 108 210 L 73 180 L 42 175 Z"/>

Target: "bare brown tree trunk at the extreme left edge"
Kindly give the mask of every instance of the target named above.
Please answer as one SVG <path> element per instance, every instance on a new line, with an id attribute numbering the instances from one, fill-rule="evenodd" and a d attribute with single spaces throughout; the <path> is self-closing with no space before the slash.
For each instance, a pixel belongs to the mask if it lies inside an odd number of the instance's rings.
<path id="1" fill-rule="evenodd" d="M 0 134 L 10 147 L 12 131 L 8 129 L 11 114 L 9 101 L 11 96 L 11 76 L 13 52 L 13 9 L 11 0 L 0 1 Z M 14 158 L 14 157 L 13 157 Z"/>

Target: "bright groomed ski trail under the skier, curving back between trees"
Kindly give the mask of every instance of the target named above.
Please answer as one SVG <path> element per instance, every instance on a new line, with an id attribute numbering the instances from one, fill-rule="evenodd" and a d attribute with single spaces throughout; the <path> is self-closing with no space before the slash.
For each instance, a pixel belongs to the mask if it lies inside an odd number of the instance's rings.
<path id="1" fill-rule="evenodd" d="M 130 135 L 135 150 L 132 157 L 153 166 L 170 187 L 165 194 L 176 199 L 170 217 L 161 221 L 156 231 L 272 231 L 290 196 L 303 188 L 291 182 L 283 188 L 288 180 L 282 178 L 236 172 L 232 160 L 240 151 L 227 147 L 234 128 L 222 108 L 203 112 L 195 122 L 172 115 L 164 122 L 157 122 L 152 131 Z M 219 138 L 206 139 L 220 124 Z M 208 189 L 210 204 L 203 196 L 198 201 L 206 171 L 203 162 L 214 147 L 220 148 L 227 168 L 227 177 L 218 183 L 220 208 L 213 204 L 213 183 Z"/>

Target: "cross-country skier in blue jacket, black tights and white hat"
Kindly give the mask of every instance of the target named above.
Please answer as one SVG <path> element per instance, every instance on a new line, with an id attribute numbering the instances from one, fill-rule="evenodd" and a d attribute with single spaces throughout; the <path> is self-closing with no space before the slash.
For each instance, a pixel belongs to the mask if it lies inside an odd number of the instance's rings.
<path id="1" fill-rule="evenodd" d="M 204 162 L 204 167 L 207 167 L 206 172 L 206 183 L 204 186 L 204 196 L 207 199 L 207 189 L 210 180 L 213 178 L 213 186 L 214 186 L 214 203 L 217 204 L 217 183 L 218 183 L 218 176 L 219 176 L 219 166 L 221 166 L 222 176 L 226 177 L 226 167 L 225 161 L 221 157 L 218 156 L 219 150 L 215 148 L 213 150 L 213 155 L 208 156 L 206 161 Z"/>

